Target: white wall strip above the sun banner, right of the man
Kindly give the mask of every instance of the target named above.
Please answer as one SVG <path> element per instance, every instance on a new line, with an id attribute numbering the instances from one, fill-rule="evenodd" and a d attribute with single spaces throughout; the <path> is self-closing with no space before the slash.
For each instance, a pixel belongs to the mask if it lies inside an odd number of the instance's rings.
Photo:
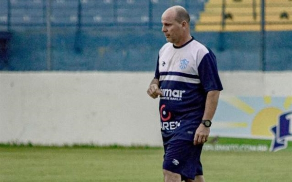
<path id="1" fill-rule="evenodd" d="M 292 96 L 292 72 L 221 72 L 223 95 Z"/>

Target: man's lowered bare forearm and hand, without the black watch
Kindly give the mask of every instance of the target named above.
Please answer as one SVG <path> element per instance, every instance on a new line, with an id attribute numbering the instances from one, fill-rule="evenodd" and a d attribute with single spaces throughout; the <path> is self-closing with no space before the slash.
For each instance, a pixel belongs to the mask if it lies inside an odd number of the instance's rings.
<path id="1" fill-rule="evenodd" d="M 219 90 L 212 90 L 207 93 L 203 120 L 204 119 L 212 120 L 218 105 L 219 94 L 220 94 Z M 208 140 L 209 134 L 210 128 L 207 128 L 203 124 L 200 124 L 200 126 L 195 132 L 194 145 L 203 144 L 204 142 L 206 142 Z"/>

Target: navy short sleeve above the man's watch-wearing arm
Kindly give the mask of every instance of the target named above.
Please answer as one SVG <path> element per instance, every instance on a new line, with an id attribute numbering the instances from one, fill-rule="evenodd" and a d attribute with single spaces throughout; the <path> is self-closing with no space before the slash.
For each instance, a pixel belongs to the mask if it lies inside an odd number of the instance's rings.
<path id="1" fill-rule="evenodd" d="M 198 66 L 198 73 L 201 80 L 201 84 L 205 92 L 211 90 L 223 90 L 222 83 L 219 78 L 216 56 L 211 50 L 201 60 Z"/>

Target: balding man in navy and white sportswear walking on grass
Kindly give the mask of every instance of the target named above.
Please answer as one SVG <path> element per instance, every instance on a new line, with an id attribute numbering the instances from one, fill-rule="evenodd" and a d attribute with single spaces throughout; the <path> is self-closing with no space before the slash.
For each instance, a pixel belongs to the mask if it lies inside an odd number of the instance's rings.
<path id="1" fill-rule="evenodd" d="M 166 43 L 159 51 L 147 94 L 160 96 L 164 143 L 164 182 L 204 182 L 200 161 L 208 140 L 219 92 L 216 57 L 190 35 L 190 17 L 182 6 L 162 15 Z"/>

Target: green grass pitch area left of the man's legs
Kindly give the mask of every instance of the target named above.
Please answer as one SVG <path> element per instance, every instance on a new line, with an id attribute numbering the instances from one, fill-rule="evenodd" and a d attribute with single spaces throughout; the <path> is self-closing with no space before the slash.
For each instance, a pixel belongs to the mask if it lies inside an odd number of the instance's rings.
<path id="1" fill-rule="evenodd" d="M 162 152 L 0 147 L 0 182 L 161 182 Z"/>

